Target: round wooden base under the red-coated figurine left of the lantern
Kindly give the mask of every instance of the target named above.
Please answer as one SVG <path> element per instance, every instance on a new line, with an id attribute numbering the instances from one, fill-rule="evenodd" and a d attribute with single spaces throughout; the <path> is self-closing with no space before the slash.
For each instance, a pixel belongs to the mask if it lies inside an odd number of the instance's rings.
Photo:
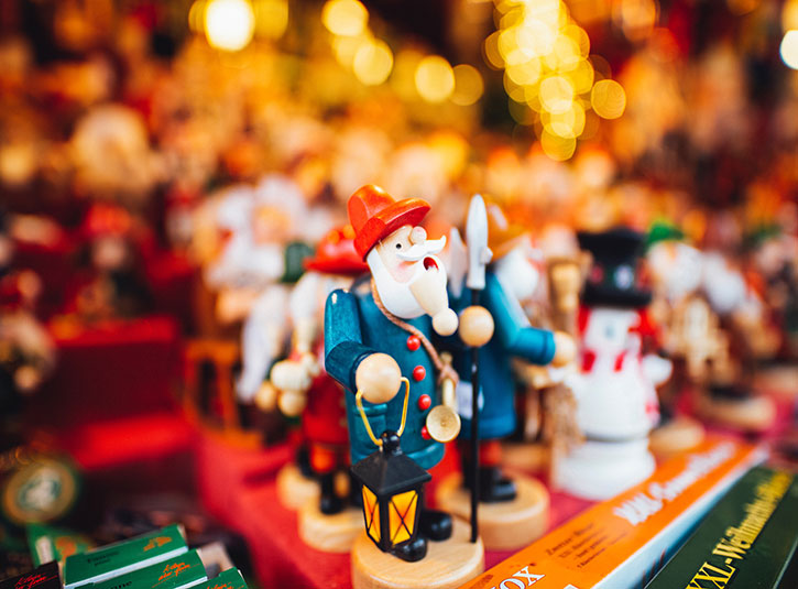
<path id="1" fill-rule="evenodd" d="M 299 509 L 299 537 L 305 544 L 323 553 L 348 553 L 363 531 L 362 510 L 347 509 L 325 515 L 318 501 L 308 501 Z"/>

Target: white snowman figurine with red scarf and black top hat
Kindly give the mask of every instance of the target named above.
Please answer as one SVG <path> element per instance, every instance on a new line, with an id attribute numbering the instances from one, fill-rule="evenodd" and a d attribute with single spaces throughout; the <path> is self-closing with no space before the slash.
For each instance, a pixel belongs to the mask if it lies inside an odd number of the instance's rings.
<path id="1" fill-rule="evenodd" d="M 648 434 L 659 421 L 655 386 L 671 364 L 643 353 L 651 293 L 636 286 L 643 237 L 628 229 L 580 233 L 593 257 L 579 314 L 581 369 L 569 382 L 584 443 L 562 460 L 558 483 L 567 492 L 604 500 L 654 470 Z"/>

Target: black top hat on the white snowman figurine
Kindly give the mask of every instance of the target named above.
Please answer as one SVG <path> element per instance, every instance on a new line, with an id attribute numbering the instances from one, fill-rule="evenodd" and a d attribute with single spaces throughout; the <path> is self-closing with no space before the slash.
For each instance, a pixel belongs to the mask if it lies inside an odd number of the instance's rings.
<path id="1" fill-rule="evenodd" d="M 637 287 L 637 259 L 645 237 L 625 227 L 601 233 L 580 231 L 579 247 L 593 254 L 582 291 L 586 305 L 645 307 L 652 293 Z"/>

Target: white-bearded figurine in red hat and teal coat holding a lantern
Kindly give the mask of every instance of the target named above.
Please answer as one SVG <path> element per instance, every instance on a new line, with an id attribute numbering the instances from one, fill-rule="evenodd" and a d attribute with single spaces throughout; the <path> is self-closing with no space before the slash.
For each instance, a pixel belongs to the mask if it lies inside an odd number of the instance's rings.
<path id="1" fill-rule="evenodd" d="M 445 239 L 427 239 L 419 227 L 428 210 L 418 198 L 358 189 L 349 221 L 371 281 L 327 299 L 325 366 L 347 389 L 352 473 L 367 528 L 352 547 L 356 588 L 455 587 L 484 565 L 482 543 L 469 542 L 467 524 L 424 503 L 426 469 L 460 429 L 455 411 L 438 401 L 438 384 L 457 373 L 431 339 L 453 335 L 458 317 L 436 255 Z"/>

